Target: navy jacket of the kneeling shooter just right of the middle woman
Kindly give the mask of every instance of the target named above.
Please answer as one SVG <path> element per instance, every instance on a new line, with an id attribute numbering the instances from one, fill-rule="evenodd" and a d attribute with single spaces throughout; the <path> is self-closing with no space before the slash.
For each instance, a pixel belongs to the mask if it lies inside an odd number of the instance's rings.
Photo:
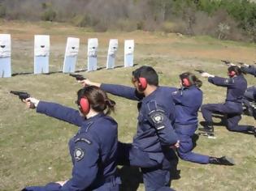
<path id="1" fill-rule="evenodd" d="M 242 74 L 229 79 L 224 79 L 217 76 L 214 78 L 209 77 L 208 81 L 216 86 L 227 87 L 226 103 L 242 103 L 242 98 L 247 88 L 247 81 Z"/>

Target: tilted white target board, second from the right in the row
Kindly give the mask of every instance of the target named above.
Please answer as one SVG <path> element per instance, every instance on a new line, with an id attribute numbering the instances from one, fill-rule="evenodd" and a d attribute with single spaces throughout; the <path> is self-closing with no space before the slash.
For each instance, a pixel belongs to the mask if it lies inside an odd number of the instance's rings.
<path id="1" fill-rule="evenodd" d="M 111 39 L 107 52 L 106 69 L 112 69 L 115 67 L 115 55 L 118 49 L 118 40 Z"/>

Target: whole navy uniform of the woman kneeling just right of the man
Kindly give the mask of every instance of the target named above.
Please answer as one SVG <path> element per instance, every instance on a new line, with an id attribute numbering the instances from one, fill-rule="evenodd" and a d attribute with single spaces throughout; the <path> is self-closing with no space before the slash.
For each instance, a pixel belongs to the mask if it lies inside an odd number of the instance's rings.
<path id="1" fill-rule="evenodd" d="M 197 130 L 197 112 L 202 104 L 202 91 L 197 86 L 182 87 L 172 93 L 175 103 L 175 129 L 179 136 L 177 149 L 181 159 L 194 163 L 209 163 L 209 156 L 193 153 L 192 136 Z"/>

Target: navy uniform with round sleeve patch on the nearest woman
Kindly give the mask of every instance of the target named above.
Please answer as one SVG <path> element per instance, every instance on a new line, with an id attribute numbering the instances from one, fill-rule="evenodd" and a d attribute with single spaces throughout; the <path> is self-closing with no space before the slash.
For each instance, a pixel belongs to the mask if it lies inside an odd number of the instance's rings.
<path id="1" fill-rule="evenodd" d="M 78 191 L 119 190 L 120 180 L 116 176 L 117 123 L 103 113 L 85 120 L 80 112 L 60 104 L 40 101 L 37 112 L 73 125 L 80 126 L 78 133 L 69 142 L 72 156 L 72 178 L 63 186 L 50 183 L 32 186 L 28 191 Z"/>

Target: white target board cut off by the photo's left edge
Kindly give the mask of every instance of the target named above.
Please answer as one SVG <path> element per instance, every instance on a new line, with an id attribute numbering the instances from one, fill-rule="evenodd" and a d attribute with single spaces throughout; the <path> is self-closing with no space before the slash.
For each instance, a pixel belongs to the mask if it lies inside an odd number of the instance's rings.
<path id="1" fill-rule="evenodd" d="M 11 77 L 11 35 L 0 34 L 0 78 Z"/>

